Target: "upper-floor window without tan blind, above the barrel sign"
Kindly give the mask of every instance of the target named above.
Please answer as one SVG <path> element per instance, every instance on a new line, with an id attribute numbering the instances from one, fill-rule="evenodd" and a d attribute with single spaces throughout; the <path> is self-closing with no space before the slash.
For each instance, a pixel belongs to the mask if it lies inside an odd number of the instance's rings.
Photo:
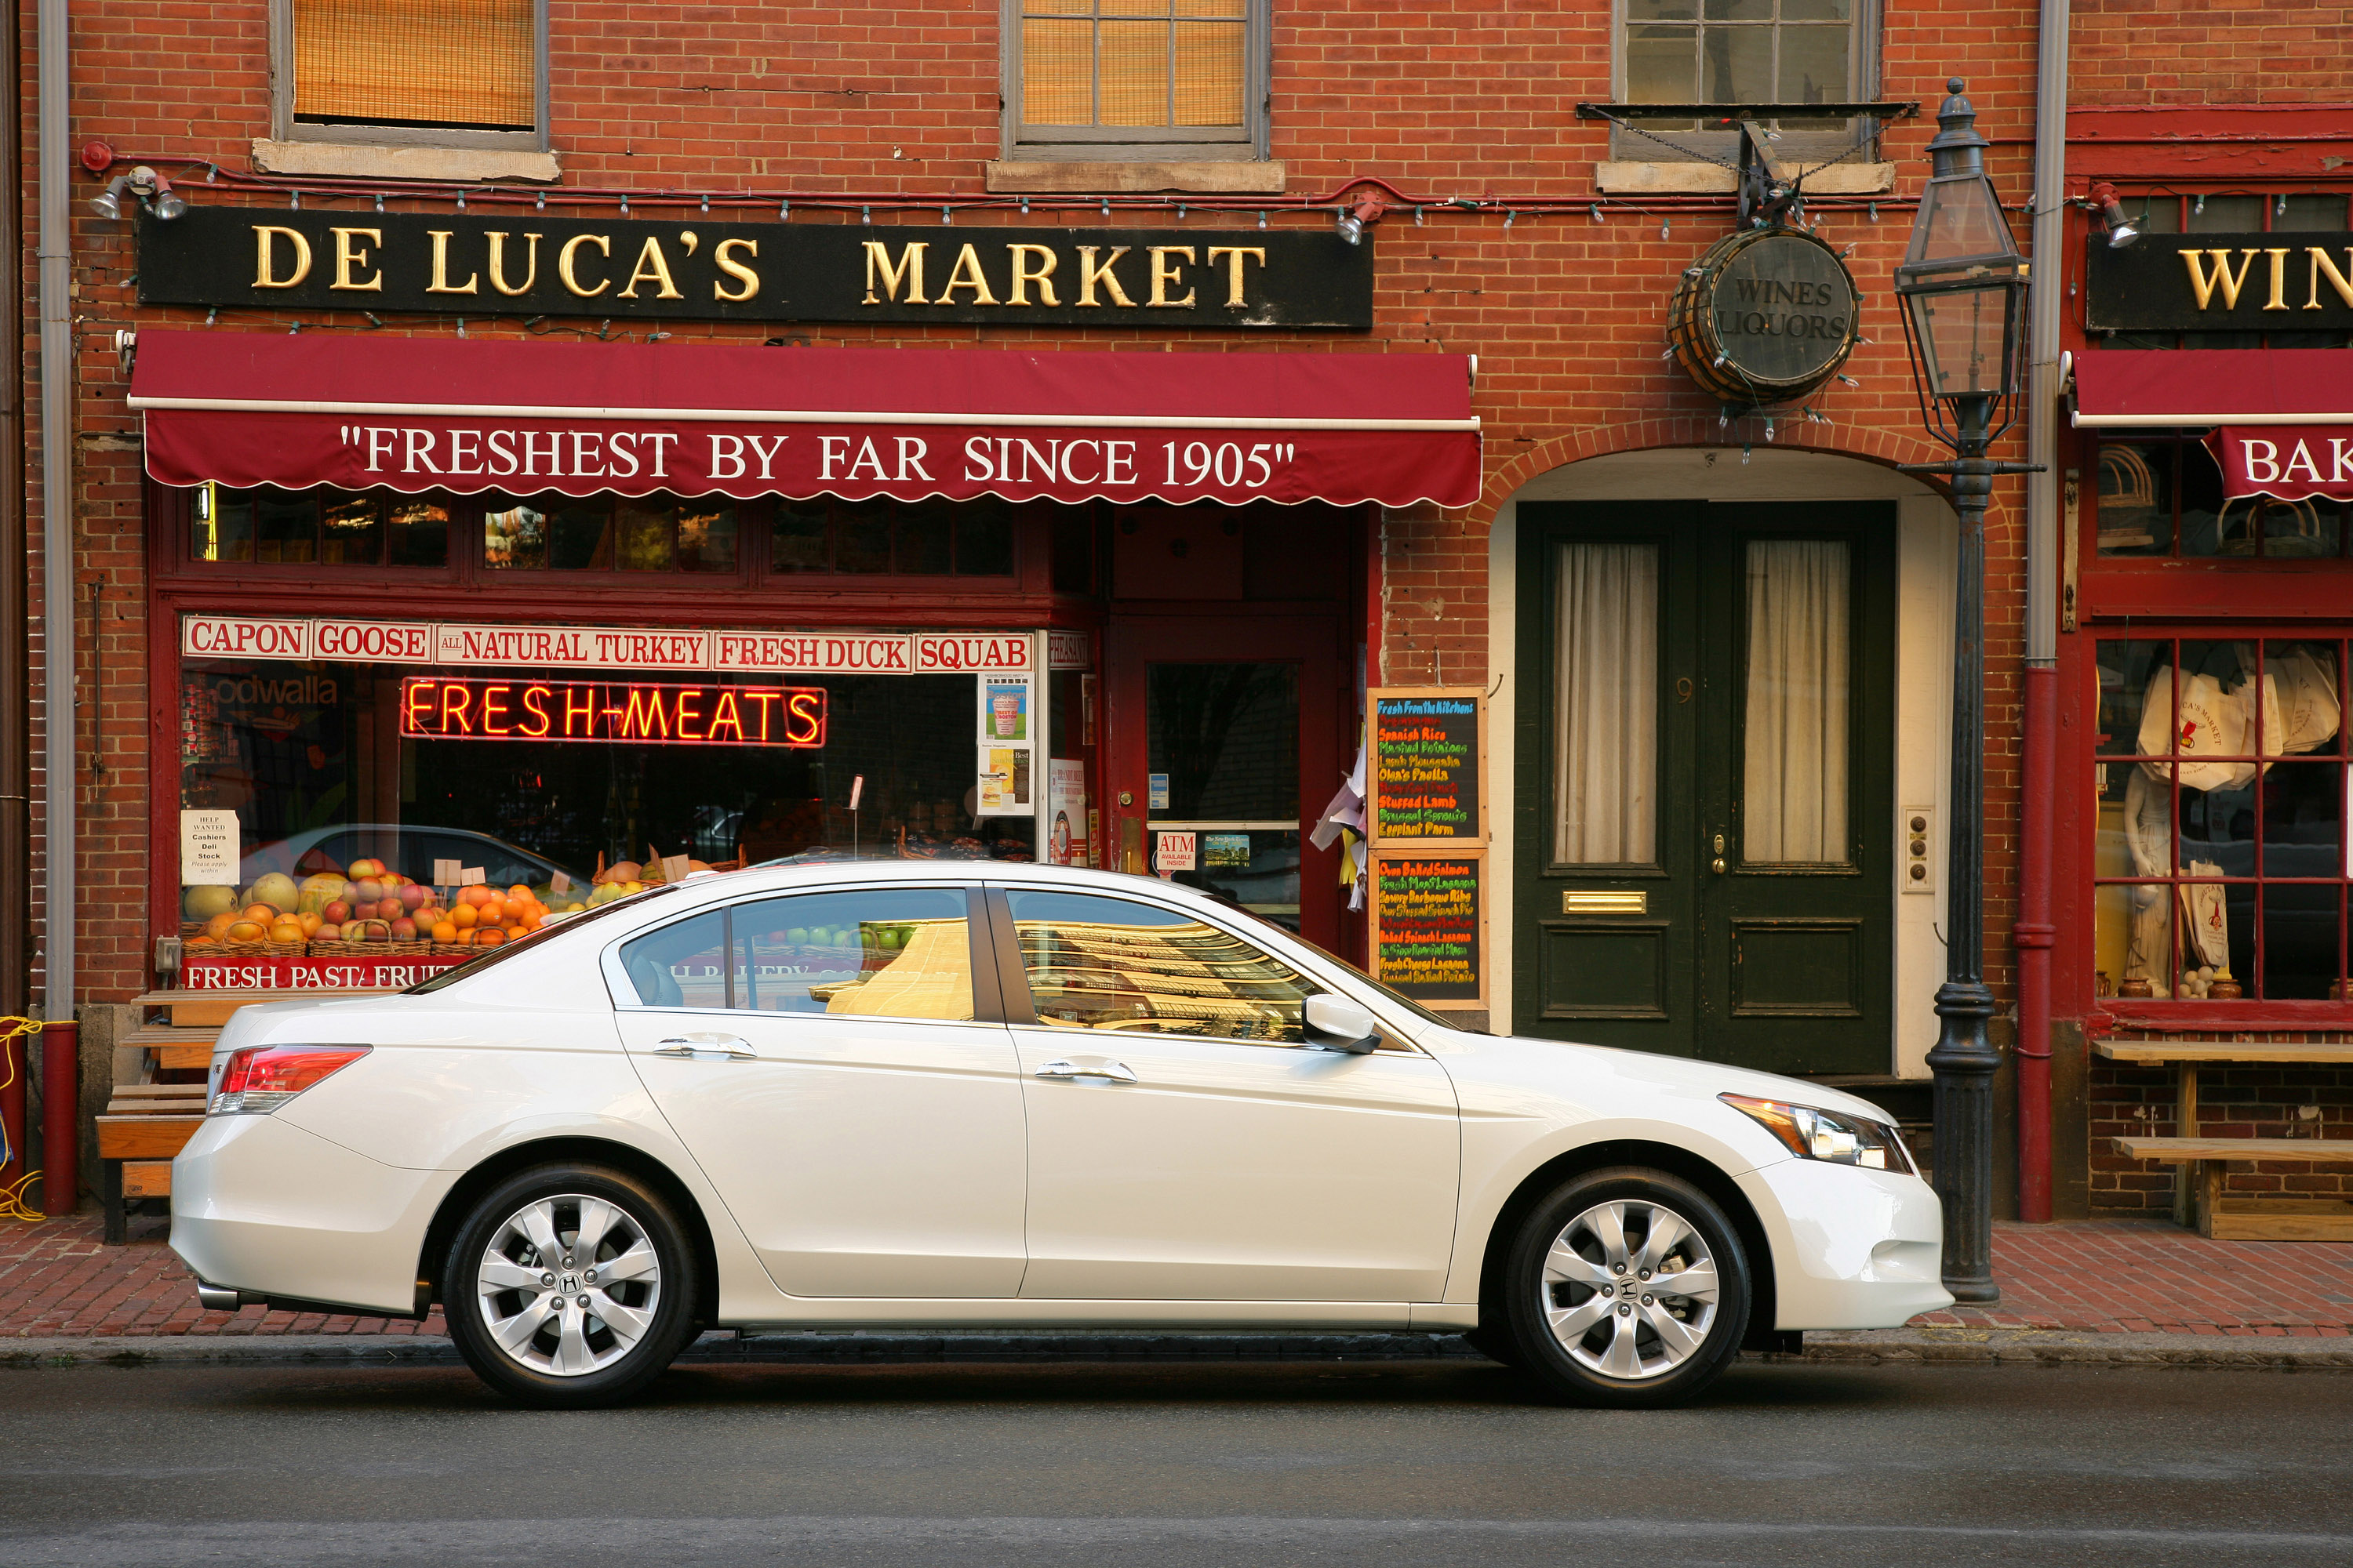
<path id="1" fill-rule="evenodd" d="M 1617 38 L 1619 103 L 1859 103 L 1878 89 L 1878 35 L 1871 0 L 1621 0 Z M 1635 162 L 1729 158 L 1737 132 L 1645 125 L 1652 136 L 1614 134 L 1617 158 Z M 1791 160 L 1852 150 L 1854 127 L 1807 125 L 1781 132 Z"/>

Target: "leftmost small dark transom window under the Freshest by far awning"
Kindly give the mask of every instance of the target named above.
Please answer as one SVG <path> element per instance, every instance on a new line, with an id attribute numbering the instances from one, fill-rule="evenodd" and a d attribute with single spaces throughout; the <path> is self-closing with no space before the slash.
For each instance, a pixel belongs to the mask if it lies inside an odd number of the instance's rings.
<path id="1" fill-rule="evenodd" d="M 445 567 L 449 505 L 431 496 L 198 484 L 188 555 L 198 562 Z"/>

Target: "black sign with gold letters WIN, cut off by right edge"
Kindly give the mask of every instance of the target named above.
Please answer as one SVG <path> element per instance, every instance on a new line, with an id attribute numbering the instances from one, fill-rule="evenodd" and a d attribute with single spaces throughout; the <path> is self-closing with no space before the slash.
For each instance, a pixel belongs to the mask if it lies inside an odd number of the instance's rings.
<path id="1" fill-rule="evenodd" d="M 2085 249 L 2092 331 L 2353 329 L 2353 235 L 2141 235 Z"/>

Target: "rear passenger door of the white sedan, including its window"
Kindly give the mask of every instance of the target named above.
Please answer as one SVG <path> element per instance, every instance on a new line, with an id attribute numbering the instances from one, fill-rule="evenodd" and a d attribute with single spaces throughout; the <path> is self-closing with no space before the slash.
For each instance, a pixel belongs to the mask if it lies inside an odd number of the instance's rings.
<path id="1" fill-rule="evenodd" d="M 962 886 L 753 898 L 621 943 L 621 1037 L 791 1295 L 1021 1286 L 1024 1126 Z M 976 978 L 981 980 L 976 994 Z"/>

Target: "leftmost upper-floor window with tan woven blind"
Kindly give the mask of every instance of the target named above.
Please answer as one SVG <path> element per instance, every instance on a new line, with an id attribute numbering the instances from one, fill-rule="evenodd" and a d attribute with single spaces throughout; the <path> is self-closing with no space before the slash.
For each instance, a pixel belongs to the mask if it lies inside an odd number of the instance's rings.
<path id="1" fill-rule="evenodd" d="M 275 134 L 541 148 L 544 0 L 273 0 Z"/>

